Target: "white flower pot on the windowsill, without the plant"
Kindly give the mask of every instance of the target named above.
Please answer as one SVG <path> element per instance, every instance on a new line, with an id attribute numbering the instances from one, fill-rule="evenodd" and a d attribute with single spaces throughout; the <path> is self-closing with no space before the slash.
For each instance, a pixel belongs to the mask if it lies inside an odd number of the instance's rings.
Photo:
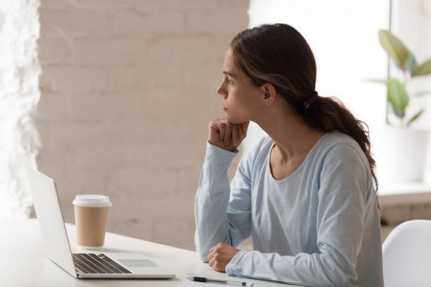
<path id="1" fill-rule="evenodd" d="M 372 135 L 377 179 L 382 184 L 423 181 L 427 129 L 385 127 Z"/>

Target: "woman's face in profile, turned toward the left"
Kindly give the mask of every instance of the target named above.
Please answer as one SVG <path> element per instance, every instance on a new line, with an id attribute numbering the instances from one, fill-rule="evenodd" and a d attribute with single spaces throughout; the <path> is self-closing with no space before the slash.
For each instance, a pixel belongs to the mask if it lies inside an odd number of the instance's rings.
<path id="1" fill-rule="evenodd" d="M 263 90 L 254 87 L 251 79 L 239 70 L 230 47 L 226 51 L 223 74 L 217 94 L 223 97 L 222 105 L 227 120 L 232 124 L 253 120 L 264 107 Z"/>

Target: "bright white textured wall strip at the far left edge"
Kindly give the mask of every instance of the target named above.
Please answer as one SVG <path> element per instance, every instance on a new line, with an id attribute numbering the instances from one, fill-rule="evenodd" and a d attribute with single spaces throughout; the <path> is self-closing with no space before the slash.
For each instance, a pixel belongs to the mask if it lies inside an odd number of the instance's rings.
<path id="1" fill-rule="evenodd" d="M 39 101 L 39 0 L 0 1 L 0 216 L 32 213 L 25 164 L 39 140 L 32 113 Z"/>

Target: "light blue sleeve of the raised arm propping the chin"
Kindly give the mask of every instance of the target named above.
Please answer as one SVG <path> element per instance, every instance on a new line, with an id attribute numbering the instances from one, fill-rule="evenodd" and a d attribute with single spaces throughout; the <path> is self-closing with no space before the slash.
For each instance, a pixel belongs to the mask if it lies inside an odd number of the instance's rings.
<path id="1" fill-rule="evenodd" d="M 251 175 L 246 160 L 239 163 L 231 184 L 227 176 L 237 152 L 206 144 L 194 200 L 194 243 L 203 262 L 208 262 L 208 251 L 218 243 L 237 246 L 251 234 Z"/>

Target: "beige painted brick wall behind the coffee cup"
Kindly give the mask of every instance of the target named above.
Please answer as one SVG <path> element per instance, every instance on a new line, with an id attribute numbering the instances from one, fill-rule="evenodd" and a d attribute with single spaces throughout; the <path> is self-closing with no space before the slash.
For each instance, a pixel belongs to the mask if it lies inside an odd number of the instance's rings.
<path id="1" fill-rule="evenodd" d="M 194 248 L 194 194 L 225 50 L 248 0 L 42 0 L 39 169 L 104 193 L 108 231 Z M 230 176 L 237 160 L 230 169 Z"/>

